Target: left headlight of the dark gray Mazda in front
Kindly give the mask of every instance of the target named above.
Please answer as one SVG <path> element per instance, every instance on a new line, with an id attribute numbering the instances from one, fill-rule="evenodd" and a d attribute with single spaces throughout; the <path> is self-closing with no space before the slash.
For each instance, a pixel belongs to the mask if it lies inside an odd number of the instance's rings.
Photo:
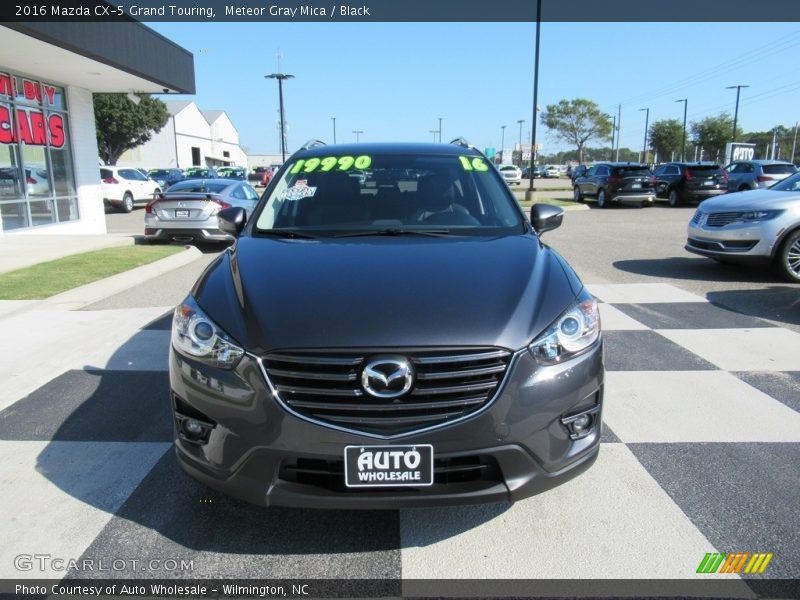
<path id="1" fill-rule="evenodd" d="M 191 296 L 175 308 L 172 345 L 181 354 L 223 369 L 232 369 L 244 355 L 244 350 L 230 341 Z"/>

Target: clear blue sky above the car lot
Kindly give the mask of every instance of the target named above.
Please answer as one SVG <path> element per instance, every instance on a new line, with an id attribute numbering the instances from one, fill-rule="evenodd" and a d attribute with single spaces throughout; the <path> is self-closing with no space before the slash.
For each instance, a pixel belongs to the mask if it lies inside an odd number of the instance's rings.
<path id="1" fill-rule="evenodd" d="M 530 139 L 533 23 L 148 23 L 194 54 L 201 109 L 225 110 L 250 153 L 277 153 L 278 70 L 288 150 L 308 139 L 432 141 L 480 148 Z M 577 97 L 609 114 L 622 103 L 621 145 L 640 148 L 650 123 L 689 121 L 739 105 L 746 131 L 800 120 L 797 23 L 543 23 L 539 106 Z M 537 126 L 545 152 L 563 149 Z"/>

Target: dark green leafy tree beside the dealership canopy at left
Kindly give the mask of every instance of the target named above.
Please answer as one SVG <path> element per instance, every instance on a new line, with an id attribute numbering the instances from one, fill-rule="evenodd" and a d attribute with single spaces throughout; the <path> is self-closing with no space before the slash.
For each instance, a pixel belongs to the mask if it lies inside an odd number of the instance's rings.
<path id="1" fill-rule="evenodd" d="M 94 121 L 97 148 L 107 165 L 117 164 L 126 150 L 140 146 L 169 120 L 167 105 L 149 94 L 136 94 L 135 104 L 127 94 L 95 94 Z"/>

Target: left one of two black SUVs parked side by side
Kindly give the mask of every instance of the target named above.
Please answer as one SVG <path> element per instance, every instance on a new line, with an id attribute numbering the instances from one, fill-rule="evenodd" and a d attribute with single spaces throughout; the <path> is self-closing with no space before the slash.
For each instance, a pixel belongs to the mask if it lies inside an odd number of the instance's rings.
<path id="1" fill-rule="evenodd" d="M 650 167 L 639 163 L 597 163 L 572 185 L 575 202 L 592 196 L 597 198 L 599 208 L 606 208 L 611 202 L 653 206 L 656 198 Z"/>

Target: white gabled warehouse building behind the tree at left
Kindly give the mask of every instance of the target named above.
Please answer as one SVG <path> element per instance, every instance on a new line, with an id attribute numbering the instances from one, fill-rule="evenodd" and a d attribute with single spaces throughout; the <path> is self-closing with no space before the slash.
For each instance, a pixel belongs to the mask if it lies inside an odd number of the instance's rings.
<path id="1" fill-rule="evenodd" d="M 117 165 L 145 169 L 192 166 L 247 166 L 239 132 L 221 110 L 200 110 L 194 102 L 167 101 L 169 121 L 150 140 L 125 152 Z"/>

